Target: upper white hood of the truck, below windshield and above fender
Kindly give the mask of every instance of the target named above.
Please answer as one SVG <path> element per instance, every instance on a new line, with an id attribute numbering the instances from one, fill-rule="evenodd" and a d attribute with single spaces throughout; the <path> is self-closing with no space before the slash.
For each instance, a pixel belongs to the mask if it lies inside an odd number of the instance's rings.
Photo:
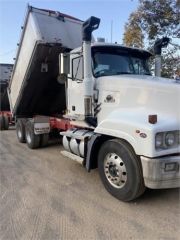
<path id="1" fill-rule="evenodd" d="M 180 123 L 180 84 L 172 79 L 146 75 L 105 76 L 97 79 L 96 87 L 102 111 L 103 105 L 107 109 L 106 97 L 112 95 L 114 102 L 109 103 L 112 110 L 130 108 Z M 107 114 L 105 110 L 103 115 Z"/>

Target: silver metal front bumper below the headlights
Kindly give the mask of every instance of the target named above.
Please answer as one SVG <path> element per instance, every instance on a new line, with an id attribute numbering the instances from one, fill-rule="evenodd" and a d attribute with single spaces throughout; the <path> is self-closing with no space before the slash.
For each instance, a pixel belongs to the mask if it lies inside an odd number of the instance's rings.
<path id="1" fill-rule="evenodd" d="M 145 186 L 152 189 L 180 187 L 180 155 L 147 158 L 141 156 Z"/>

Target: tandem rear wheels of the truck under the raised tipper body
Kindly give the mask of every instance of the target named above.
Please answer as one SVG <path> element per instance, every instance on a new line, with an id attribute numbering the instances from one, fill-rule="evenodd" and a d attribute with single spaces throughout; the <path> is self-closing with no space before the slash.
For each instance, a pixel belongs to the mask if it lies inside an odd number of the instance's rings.
<path id="1" fill-rule="evenodd" d="M 31 149 L 45 147 L 48 144 L 49 134 L 36 135 L 34 133 L 34 123 L 30 120 L 18 119 L 16 133 L 19 142 L 26 143 Z"/>

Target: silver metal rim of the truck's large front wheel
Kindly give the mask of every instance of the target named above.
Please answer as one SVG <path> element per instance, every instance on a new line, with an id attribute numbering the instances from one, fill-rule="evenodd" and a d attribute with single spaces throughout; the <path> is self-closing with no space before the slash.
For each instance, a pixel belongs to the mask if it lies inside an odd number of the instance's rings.
<path id="1" fill-rule="evenodd" d="M 127 182 L 126 166 L 116 153 L 106 155 L 104 173 L 108 182 L 115 188 L 122 188 Z"/>

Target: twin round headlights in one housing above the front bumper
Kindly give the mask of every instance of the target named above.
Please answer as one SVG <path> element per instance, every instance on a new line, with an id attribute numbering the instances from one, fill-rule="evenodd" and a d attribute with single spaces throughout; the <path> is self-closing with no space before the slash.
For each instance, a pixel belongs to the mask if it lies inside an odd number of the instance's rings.
<path id="1" fill-rule="evenodd" d="M 177 147 L 179 141 L 180 131 L 159 132 L 155 137 L 155 147 L 157 150 Z"/>

